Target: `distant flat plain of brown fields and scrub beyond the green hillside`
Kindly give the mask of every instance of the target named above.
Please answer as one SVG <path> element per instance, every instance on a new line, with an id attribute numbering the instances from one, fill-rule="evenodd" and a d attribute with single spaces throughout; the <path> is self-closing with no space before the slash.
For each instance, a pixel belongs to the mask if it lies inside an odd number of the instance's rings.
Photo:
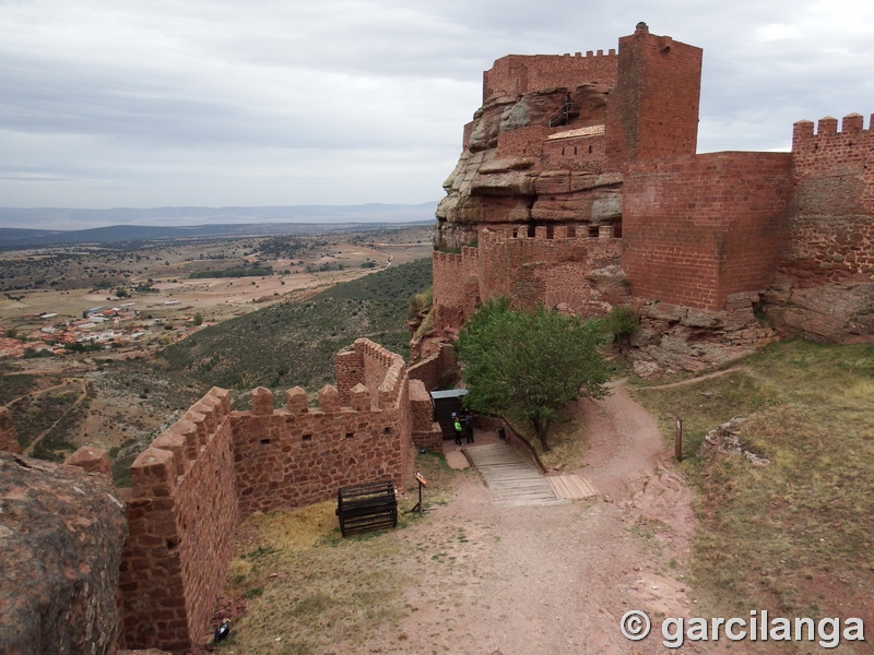
<path id="1" fill-rule="evenodd" d="M 284 247 L 283 247 L 284 246 Z M 0 252 L 0 325 L 28 330 L 36 317 L 79 319 L 95 306 L 132 302 L 140 312 L 200 312 L 221 321 L 375 270 L 429 257 L 430 228 L 327 233 L 231 241 L 139 243 Z M 270 267 L 272 275 L 202 277 L 209 271 Z M 153 291 L 138 290 L 138 287 Z M 129 296 L 118 297 L 123 289 Z M 173 306 L 168 301 L 176 301 Z"/>

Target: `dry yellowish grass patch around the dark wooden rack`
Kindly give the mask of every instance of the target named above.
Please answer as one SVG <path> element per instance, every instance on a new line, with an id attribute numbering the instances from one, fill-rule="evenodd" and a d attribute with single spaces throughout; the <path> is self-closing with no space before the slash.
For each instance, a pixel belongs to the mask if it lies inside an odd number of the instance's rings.
<path id="1" fill-rule="evenodd" d="M 416 467 L 429 481 L 426 507 L 445 502 L 459 474 L 428 453 L 417 457 Z M 400 512 L 412 509 L 416 489 L 408 489 Z M 397 531 L 342 538 L 335 508 L 328 501 L 257 513 L 244 522 L 224 594 L 247 598 L 247 612 L 235 621 L 222 652 L 366 652 L 375 633 L 393 630 L 412 611 L 403 599 L 415 583 L 406 572 L 409 546 Z M 417 513 L 401 514 L 398 529 L 421 520 Z"/>

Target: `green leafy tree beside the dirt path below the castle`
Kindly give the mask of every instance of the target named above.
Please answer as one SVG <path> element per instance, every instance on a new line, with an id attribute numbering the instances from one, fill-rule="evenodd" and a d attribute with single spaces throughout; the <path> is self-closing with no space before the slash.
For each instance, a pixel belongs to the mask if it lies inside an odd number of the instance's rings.
<path id="1" fill-rule="evenodd" d="M 520 417 L 548 451 L 558 410 L 606 394 L 610 366 L 601 355 L 598 321 L 564 317 L 540 306 L 528 312 L 505 298 L 489 300 L 459 333 L 456 348 L 469 407 Z"/>

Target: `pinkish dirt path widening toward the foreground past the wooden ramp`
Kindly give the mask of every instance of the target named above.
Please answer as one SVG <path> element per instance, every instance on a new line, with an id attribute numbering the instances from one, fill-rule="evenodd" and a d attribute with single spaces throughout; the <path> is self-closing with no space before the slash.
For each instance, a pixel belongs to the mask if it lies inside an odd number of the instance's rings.
<path id="1" fill-rule="evenodd" d="M 657 612 L 688 617 L 694 607 L 684 583 L 690 491 L 669 467 L 656 421 L 622 386 L 574 412 L 588 425 L 581 471 L 602 496 L 497 508 L 469 474 L 448 505 L 399 533 L 411 553 L 409 574 L 421 582 L 408 592 L 413 612 L 370 652 L 665 652 Z M 622 635 L 629 609 L 653 617 L 648 639 Z"/>

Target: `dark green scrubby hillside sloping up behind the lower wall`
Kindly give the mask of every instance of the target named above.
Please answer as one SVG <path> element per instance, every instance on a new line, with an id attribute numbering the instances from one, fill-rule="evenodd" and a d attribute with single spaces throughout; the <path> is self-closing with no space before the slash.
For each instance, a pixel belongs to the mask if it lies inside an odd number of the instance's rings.
<path id="1" fill-rule="evenodd" d="M 406 356 L 409 300 L 430 284 L 430 260 L 417 260 L 209 327 L 162 356 L 218 386 L 315 391 L 333 381 L 334 355 L 358 337 Z"/>

